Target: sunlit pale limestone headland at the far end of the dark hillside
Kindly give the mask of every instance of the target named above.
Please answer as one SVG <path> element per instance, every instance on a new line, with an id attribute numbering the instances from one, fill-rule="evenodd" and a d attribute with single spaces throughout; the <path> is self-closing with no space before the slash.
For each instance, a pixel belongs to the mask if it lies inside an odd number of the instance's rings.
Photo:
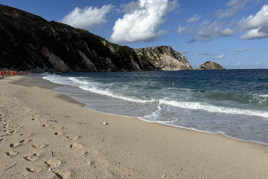
<path id="1" fill-rule="evenodd" d="M 134 49 L 141 58 L 145 57 L 155 67 L 162 70 L 192 70 L 187 58 L 170 46 L 158 46 Z"/>

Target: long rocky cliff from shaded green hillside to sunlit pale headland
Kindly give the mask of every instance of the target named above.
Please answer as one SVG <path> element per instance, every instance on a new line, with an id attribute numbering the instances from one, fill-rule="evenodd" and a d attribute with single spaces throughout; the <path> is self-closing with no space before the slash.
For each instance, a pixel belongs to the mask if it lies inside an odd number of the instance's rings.
<path id="1" fill-rule="evenodd" d="M 120 46 L 5 5 L 0 5 L 0 22 L 0 68 L 33 72 L 192 69 L 171 47 Z"/>

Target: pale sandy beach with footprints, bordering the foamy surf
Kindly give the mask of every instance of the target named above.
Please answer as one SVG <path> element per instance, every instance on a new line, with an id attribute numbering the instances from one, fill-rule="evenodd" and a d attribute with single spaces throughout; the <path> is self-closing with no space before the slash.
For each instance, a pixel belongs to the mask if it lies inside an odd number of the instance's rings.
<path id="1" fill-rule="evenodd" d="M 60 86 L 0 80 L 0 178 L 268 178 L 268 145 L 91 111 Z"/>

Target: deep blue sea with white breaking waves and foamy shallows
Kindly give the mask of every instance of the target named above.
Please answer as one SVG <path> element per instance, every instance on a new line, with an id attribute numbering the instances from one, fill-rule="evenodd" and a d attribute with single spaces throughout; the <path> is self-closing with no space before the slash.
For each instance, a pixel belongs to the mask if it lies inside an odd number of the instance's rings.
<path id="1" fill-rule="evenodd" d="M 87 109 L 268 144 L 268 69 L 44 75 Z"/>

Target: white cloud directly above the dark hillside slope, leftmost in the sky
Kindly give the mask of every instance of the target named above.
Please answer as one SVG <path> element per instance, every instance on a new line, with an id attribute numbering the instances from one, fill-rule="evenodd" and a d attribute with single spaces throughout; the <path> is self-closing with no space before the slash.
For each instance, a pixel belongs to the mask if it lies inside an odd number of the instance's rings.
<path id="1" fill-rule="evenodd" d="M 92 30 L 93 28 L 100 30 L 102 25 L 107 23 L 107 13 L 109 13 L 115 6 L 109 4 L 104 5 L 101 9 L 98 7 L 85 7 L 80 9 L 75 7 L 68 15 L 65 15 L 60 22 L 71 25 L 73 27 Z"/>

